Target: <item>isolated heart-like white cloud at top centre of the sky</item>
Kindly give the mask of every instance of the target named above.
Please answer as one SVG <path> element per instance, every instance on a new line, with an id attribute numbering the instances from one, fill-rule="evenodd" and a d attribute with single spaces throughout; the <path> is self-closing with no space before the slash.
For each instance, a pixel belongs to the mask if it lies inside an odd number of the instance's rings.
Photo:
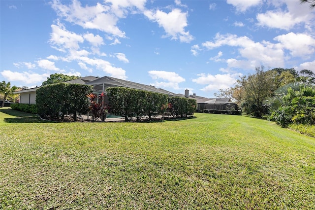
<path id="1" fill-rule="evenodd" d="M 149 20 L 157 22 L 159 27 L 164 29 L 166 35 L 163 37 L 171 37 L 172 39 L 179 39 L 181 42 L 187 43 L 193 40 L 193 36 L 185 31 L 185 27 L 188 26 L 187 12 L 182 12 L 180 9 L 176 8 L 169 13 L 161 10 L 147 10 L 144 14 Z"/>

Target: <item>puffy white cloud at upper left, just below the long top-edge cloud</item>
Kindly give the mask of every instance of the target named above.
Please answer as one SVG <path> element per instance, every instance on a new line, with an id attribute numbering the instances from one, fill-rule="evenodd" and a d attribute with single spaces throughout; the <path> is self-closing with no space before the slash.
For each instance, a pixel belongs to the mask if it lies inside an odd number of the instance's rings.
<path id="1" fill-rule="evenodd" d="M 65 52 L 65 49 L 79 49 L 79 43 L 84 41 L 81 35 L 77 35 L 74 32 L 69 32 L 62 24 L 51 25 L 52 33 L 50 34 L 49 42 L 55 49 Z"/>

